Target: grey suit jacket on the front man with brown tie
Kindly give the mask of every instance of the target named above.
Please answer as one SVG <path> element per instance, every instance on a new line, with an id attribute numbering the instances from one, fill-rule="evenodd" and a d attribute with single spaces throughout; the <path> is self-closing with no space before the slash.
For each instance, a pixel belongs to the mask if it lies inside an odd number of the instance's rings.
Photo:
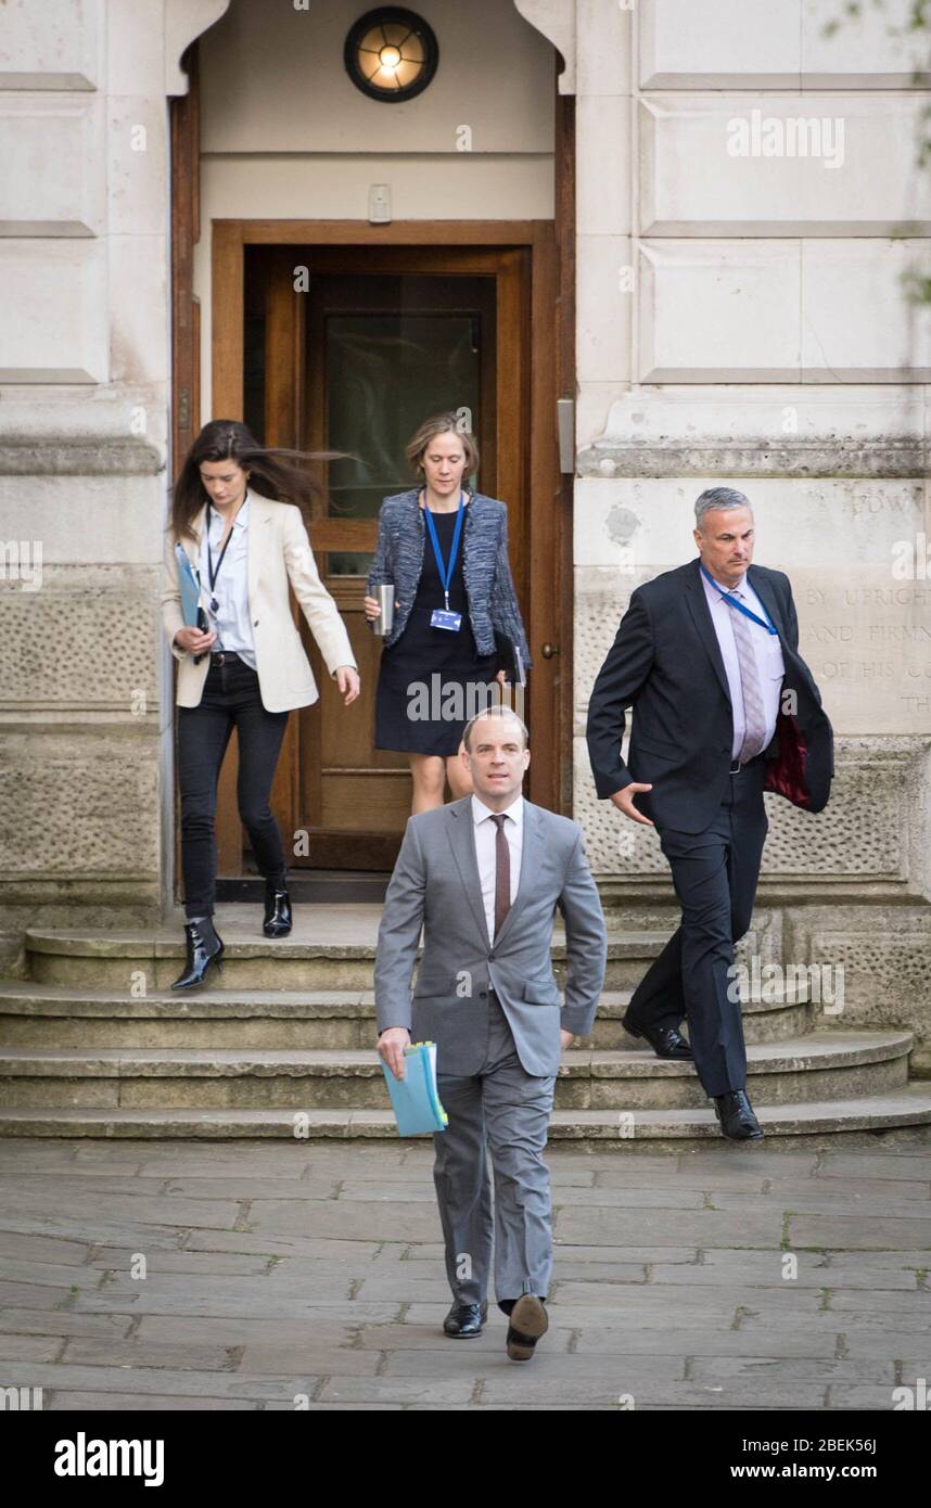
<path id="1" fill-rule="evenodd" d="M 407 1027 L 412 1041 L 436 1042 L 438 1072 L 475 1074 L 493 989 L 524 1069 L 548 1077 L 560 1066 L 560 1027 L 591 1031 L 605 979 L 605 921 L 582 832 L 569 817 L 525 804 L 518 894 L 492 942 L 471 802 L 463 796 L 407 820 L 379 927 L 379 1031 Z M 569 955 L 564 1003 L 549 952 L 557 906 Z M 424 955 L 412 998 L 421 927 Z"/>

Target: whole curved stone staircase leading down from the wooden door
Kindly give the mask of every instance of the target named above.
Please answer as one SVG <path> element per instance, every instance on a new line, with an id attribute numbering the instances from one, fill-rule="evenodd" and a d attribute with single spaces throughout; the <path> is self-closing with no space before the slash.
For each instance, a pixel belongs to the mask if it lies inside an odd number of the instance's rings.
<path id="1" fill-rule="evenodd" d="M 394 1140 L 373 1050 L 380 908 L 308 909 L 272 942 L 255 908 L 220 908 L 223 973 L 181 998 L 167 988 L 184 956 L 180 924 L 27 932 L 18 977 L 0 980 L 0 1136 Z M 693 1066 L 659 1062 L 620 1024 L 664 941 L 610 933 L 595 1031 L 564 1056 L 551 1140 L 720 1139 Z M 558 935 L 554 964 L 561 976 Z M 928 1126 L 931 1140 L 931 1083 L 908 1078 L 911 1033 L 848 1030 L 818 1012 L 801 995 L 744 1004 L 748 1093 L 767 1139 L 833 1145 Z"/>

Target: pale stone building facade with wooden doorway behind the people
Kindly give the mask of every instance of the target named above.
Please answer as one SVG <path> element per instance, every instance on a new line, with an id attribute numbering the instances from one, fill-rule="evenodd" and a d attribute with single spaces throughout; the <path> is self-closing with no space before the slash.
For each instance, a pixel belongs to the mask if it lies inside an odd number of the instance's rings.
<path id="1" fill-rule="evenodd" d="M 397 490 L 377 466 L 406 437 L 391 363 L 410 412 L 432 397 L 413 350 L 480 412 L 481 487 L 512 513 L 531 798 L 582 823 L 634 929 L 671 891 L 655 837 L 595 799 L 588 691 L 634 587 L 694 553 L 699 492 L 750 496 L 837 775 L 816 819 L 770 798 L 745 952 L 842 968 L 847 1022 L 908 1027 L 928 1063 L 931 335 L 908 277 L 929 75 L 908 8 L 837 27 L 836 0 L 415 9 L 439 66 L 386 106 L 346 71 L 347 0 L 3 6 L 8 953 L 36 920 L 151 926 L 174 903 L 158 591 L 198 425 L 340 439 Z M 330 511 L 312 537 L 350 621 L 371 496 L 340 486 L 352 528 Z M 403 775 L 361 721 L 330 743 L 326 701 L 314 716 L 293 719 L 276 810 L 311 860 L 385 867 Z M 235 875 L 228 781 L 223 799 Z"/>

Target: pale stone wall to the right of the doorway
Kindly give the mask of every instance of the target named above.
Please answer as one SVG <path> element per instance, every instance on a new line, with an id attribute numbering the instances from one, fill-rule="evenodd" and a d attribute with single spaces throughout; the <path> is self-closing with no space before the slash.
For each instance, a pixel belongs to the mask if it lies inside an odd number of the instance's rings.
<path id="1" fill-rule="evenodd" d="M 931 1041 L 931 315 L 902 285 L 931 244 L 929 78 L 928 48 L 890 32 L 907 9 L 825 35 L 827 0 L 640 0 L 610 21 L 578 0 L 573 778 L 607 899 L 671 917 L 655 835 L 595 799 L 584 724 L 631 591 L 694 555 L 694 499 L 727 480 L 756 559 L 792 579 L 837 731 L 825 813 L 767 798 L 742 956 L 842 967 L 845 1024 Z"/>

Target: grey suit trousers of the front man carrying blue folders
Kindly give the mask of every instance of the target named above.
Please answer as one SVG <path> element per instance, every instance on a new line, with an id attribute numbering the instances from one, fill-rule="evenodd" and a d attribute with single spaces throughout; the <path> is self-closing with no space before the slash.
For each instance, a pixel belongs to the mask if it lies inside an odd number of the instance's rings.
<path id="1" fill-rule="evenodd" d="M 507 1016 L 489 992 L 489 1034 L 477 1074 L 438 1072 L 450 1116 L 433 1136 L 433 1182 L 457 1303 L 484 1303 L 495 1250 L 495 1297 L 545 1298 L 552 1273 L 552 1200 L 543 1161 L 555 1075 L 528 1074 Z M 486 1157 L 495 1175 L 495 1202 Z"/>

